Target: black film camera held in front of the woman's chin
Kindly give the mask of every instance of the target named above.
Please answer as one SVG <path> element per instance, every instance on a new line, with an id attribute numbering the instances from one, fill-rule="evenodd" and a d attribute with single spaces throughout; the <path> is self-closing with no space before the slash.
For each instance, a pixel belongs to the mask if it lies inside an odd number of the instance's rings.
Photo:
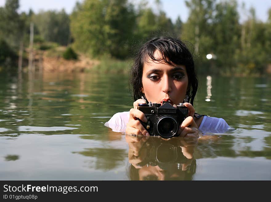
<path id="1" fill-rule="evenodd" d="M 139 104 L 138 108 L 142 111 L 148 123 L 138 119 L 150 135 L 159 135 L 164 138 L 177 136 L 179 126 L 188 116 L 188 108 L 183 103 L 173 107 L 169 101 L 160 103 Z"/>

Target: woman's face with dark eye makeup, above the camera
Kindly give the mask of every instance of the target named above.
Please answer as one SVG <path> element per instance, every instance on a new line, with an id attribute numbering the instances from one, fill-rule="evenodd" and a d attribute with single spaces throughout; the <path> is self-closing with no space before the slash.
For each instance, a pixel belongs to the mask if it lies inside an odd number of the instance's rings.
<path id="1" fill-rule="evenodd" d="M 160 58 L 159 51 L 154 56 Z M 143 66 L 142 84 L 142 92 L 149 102 L 170 101 L 172 105 L 178 105 L 183 102 L 188 87 L 186 67 L 149 59 Z"/>

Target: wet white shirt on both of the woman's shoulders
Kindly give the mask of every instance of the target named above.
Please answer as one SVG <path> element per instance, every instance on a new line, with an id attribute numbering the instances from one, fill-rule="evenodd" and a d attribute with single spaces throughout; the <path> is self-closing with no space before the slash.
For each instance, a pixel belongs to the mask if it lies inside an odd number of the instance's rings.
<path id="1" fill-rule="evenodd" d="M 129 121 L 130 112 L 115 113 L 104 125 L 111 128 L 114 132 L 125 132 Z M 229 125 L 223 118 L 204 116 L 199 130 L 205 133 L 224 133 L 229 129 Z"/>

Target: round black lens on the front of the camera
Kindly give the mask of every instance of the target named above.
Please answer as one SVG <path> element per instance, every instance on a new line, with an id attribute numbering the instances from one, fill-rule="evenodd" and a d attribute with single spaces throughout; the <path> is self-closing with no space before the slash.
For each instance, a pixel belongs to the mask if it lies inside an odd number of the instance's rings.
<path id="1" fill-rule="evenodd" d="M 158 119 L 156 129 L 161 137 L 170 138 L 177 133 L 178 123 L 173 117 L 163 116 Z"/>

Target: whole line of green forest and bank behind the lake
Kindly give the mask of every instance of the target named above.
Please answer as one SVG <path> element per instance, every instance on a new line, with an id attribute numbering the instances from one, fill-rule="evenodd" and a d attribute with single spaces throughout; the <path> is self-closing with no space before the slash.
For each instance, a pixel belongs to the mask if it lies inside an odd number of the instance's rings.
<path id="1" fill-rule="evenodd" d="M 85 0 L 77 2 L 71 14 L 65 10 L 19 13 L 19 0 L 6 0 L 0 7 L 0 71 L 29 71 L 31 53 L 33 64 L 42 64 L 43 70 L 51 64 L 63 65 L 65 71 L 70 64 L 73 71 L 127 72 L 142 43 L 172 36 L 191 49 L 198 73 L 271 73 L 271 8 L 268 20 L 262 22 L 255 9 L 246 10 L 243 3 L 246 19 L 240 22 L 235 0 L 185 3 L 187 21 L 178 17 L 172 22 L 159 0 L 156 9 L 147 1 L 135 5 L 127 0 Z"/>

